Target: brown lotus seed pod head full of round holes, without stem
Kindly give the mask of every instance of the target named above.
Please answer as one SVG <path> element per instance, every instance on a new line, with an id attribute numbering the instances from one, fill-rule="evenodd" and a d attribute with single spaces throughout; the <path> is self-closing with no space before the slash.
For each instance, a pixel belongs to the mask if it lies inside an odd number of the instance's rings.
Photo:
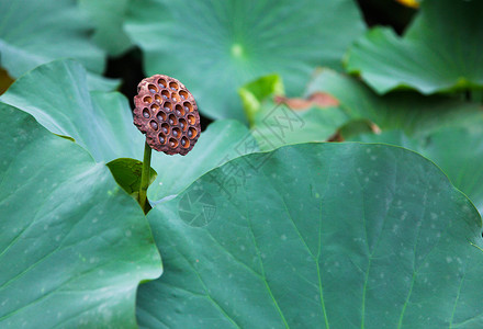
<path id="1" fill-rule="evenodd" d="M 134 104 L 134 124 L 153 149 L 186 156 L 193 148 L 201 133 L 200 114 L 184 84 L 164 75 L 143 79 Z"/>

